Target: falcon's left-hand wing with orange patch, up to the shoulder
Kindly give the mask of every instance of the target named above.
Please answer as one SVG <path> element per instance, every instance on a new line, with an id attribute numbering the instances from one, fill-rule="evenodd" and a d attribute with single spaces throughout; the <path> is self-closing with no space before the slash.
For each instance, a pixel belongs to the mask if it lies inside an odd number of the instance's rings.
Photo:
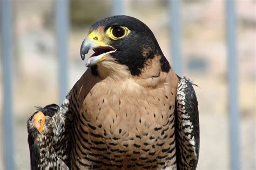
<path id="1" fill-rule="evenodd" d="M 47 105 L 38 108 L 29 118 L 27 127 L 31 169 L 69 169 L 73 118 L 98 81 L 100 79 L 92 75 L 91 68 L 87 69 L 60 108 L 56 104 Z"/>

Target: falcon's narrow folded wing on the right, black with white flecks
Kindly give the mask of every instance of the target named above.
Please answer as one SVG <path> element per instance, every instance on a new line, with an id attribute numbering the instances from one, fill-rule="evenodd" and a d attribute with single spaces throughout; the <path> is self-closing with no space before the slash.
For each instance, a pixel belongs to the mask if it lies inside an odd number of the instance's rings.
<path id="1" fill-rule="evenodd" d="M 178 169 L 196 169 L 199 156 L 197 96 L 189 79 L 180 79 L 176 95 L 176 148 Z"/>

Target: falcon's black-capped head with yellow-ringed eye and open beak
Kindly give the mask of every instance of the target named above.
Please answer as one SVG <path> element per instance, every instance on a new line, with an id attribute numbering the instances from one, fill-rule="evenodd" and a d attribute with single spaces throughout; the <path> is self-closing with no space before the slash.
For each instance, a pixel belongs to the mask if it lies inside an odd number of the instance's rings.
<path id="1" fill-rule="evenodd" d="M 96 71 L 97 67 L 112 70 L 122 67 L 131 75 L 139 76 L 156 57 L 163 72 L 170 69 L 149 27 L 129 16 L 113 16 L 93 24 L 80 48 L 83 60 L 89 49 L 95 53 L 87 59 L 86 66 Z"/>

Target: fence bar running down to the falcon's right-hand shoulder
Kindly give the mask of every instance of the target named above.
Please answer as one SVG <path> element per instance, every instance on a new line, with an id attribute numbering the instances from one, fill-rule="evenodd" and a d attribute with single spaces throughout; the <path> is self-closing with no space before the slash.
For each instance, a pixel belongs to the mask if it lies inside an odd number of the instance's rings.
<path id="1" fill-rule="evenodd" d="M 169 16 L 170 16 L 170 36 L 172 39 L 172 66 L 175 72 L 181 76 L 182 74 L 182 60 L 181 60 L 181 26 L 180 26 L 180 1 L 169 0 Z"/>

